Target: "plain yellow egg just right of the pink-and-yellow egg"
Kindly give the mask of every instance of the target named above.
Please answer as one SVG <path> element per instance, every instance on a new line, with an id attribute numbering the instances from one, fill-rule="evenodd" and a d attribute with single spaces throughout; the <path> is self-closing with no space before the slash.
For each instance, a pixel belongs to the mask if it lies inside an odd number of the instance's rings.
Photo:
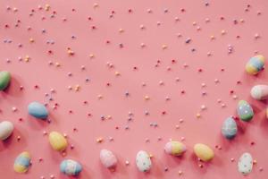
<path id="1" fill-rule="evenodd" d="M 197 158 L 200 158 L 204 162 L 214 158 L 214 150 L 203 143 L 197 143 L 194 146 L 194 152 Z"/>

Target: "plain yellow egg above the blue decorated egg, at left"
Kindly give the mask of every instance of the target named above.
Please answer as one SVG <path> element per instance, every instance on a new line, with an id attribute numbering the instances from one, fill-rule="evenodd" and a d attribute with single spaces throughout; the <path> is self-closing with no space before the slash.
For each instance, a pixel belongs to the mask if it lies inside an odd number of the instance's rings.
<path id="1" fill-rule="evenodd" d="M 60 132 L 49 133 L 49 143 L 54 150 L 63 151 L 67 148 L 68 142 Z"/>

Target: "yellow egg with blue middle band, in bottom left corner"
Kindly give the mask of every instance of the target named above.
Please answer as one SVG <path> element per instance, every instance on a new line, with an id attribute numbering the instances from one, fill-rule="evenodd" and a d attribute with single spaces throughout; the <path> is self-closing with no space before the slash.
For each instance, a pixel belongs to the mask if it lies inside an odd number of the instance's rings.
<path id="1" fill-rule="evenodd" d="M 22 152 L 14 162 L 14 171 L 17 173 L 25 173 L 28 171 L 30 165 L 29 152 Z"/>

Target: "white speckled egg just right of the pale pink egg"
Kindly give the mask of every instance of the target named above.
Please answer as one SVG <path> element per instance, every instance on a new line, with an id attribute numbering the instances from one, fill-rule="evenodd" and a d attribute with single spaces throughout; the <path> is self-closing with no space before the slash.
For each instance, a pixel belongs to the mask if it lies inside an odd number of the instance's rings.
<path id="1" fill-rule="evenodd" d="M 146 151 L 140 150 L 136 156 L 136 165 L 140 172 L 147 172 L 151 169 L 152 162 Z"/>

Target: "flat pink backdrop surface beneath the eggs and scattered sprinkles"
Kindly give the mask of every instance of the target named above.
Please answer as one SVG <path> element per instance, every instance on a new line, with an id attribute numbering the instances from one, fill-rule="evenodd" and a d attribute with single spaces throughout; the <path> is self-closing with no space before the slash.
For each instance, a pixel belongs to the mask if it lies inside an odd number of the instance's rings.
<path id="1" fill-rule="evenodd" d="M 250 98 L 249 91 L 256 84 L 268 84 L 268 72 L 250 76 L 245 64 L 255 54 L 268 56 L 268 2 L 208 3 L 0 1 L 0 69 L 13 76 L 8 90 L 1 92 L 0 117 L 15 127 L 13 136 L 0 142 L 0 178 L 68 178 L 60 173 L 59 165 L 64 158 L 71 158 L 82 164 L 82 179 L 239 179 L 244 178 L 237 169 L 243 152 L 250 152 L 257 162 L 247 178 L 267 178 L 266 104 Z M 50 5 L 48 11 L 46 4 Z M 188 44 L 187 38 L 191 38 Z M 231 54 L 228 45 L 233 47 Z M 74 55 L 68 55 L 68 47 Z M 27 55 L 29 62 L 25 61 Z M 80 85 L 79 91 L 76 85 Z M 53 100 L 49 101 L 46 93 Z M 250 123 L 238 121 L 237 137 L 227 141 L 221 134 L 222 122 L 236 115 L 239 99 L 252 104 L 255 117 Z M 32 101 L 48 103 L 50 124 L 28 115 L 27 106 Z M 205 110 L 201 110 L 202 105 Z M 13 112 L 13 107 L 17 111 Z M 51 149 L 43 134 L 51 131 L 68 135 L 65 157 Z M 17 141 L 18 136 L 21 141 Z M 97 143 L 97 138 L 104 141 Z M 181 138 L 188 147 L 183 158 L 166 155 L 165 143 Z M 215 152 L 213 161 L 203 168 L 198 167 L 200 162 L 192 150 L 198 142 Z M 100 149 L 110 149 L 118 157 L 116 172 L 101 166 Z M 140 149 L 154 155 L 148 174 L 138 172 L 135 164 Z M 27 174 L 18 175 L 13 161 L 24 150 L 31 154 L 32 166 Z M 129 166 L 125 166 L 126 160 Z M 178 175 L 179 171 L 183 174 Z"/>

